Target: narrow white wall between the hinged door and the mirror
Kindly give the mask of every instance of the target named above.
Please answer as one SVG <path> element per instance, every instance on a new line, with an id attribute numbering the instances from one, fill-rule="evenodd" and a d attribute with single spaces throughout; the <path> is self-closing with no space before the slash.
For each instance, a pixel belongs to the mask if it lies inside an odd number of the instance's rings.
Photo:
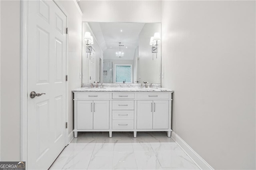
<path id="1" fill-rule="evenodd" d="M 82 84 L 82 15 L 73 0 L 60 3 L 68 12 L 68 133 L 71 133 L 74 129 L 74 94 L 71 91 Z"/>

